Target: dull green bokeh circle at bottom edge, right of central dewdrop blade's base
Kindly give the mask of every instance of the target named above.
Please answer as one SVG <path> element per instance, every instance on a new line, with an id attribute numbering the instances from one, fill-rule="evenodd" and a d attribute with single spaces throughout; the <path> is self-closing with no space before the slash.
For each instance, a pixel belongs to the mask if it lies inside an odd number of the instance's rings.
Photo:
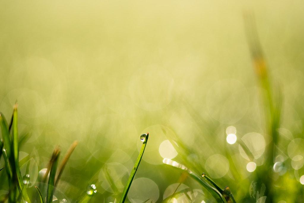
<path id="1" fill-rule="evenodd" d="M 159 197 L 157 184 L 148 178 L 137 178 L 133 180 L 128 198 L 132 203 L 142 203 L 147 199 L 156 202 Z"/>

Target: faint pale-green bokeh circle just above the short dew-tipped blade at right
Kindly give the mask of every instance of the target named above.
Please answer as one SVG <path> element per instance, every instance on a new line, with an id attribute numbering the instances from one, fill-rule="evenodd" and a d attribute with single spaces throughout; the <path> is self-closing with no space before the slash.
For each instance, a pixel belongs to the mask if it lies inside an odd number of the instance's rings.
<path id="1" fill-rule="evenodd" d="M 220 154 L 210 156 L 206 163 L 205 169 L 212 178 L 223 177 L 229 170 L 228 159 Z"/>

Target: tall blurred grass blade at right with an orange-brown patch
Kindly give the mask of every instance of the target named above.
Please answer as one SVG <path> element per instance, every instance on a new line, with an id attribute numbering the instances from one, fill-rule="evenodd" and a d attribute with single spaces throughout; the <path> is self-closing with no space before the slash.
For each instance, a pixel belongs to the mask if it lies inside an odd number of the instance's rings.
<path id="1" fill-rule="evenodd" d="M 280 125 L 280 117 L 281 117 L 281 107 L 282 107 L 282 93 L 280 88 L 278 88 L 277 95 L 273 97 L 273 92 L 271 91 L 270 79 L 268 76 L 268 66 L 262 52 L 260 40 L 257 34 L 257 27 L 254 15 L 252 13 L 244 14 L 244 22 L 246 28 L 247 41 L 251 53 L 251 58 L 254 65 L 254 70 L 256 72 L 257 78 L 259 79 L 261 88 L 264 89 L 261 92 L 262 95 L 262 104 L 264 107 L 264 115 L 265 115 L 265 126 L 268 128 L 267 133 L 271 136 L 270 143 L 265 150 L 265 166 L 262 168 L 258 176 L 258 185 L 265 183 L 266 185 L 266 194 L 267 202 L 273 202 L 275 196 L 273 191 L 275 188 L 273 187 L 273 179 L 270 178 L 272 175 L 269 173 L 273 173 L 271 170 L 274 164 L 275 157 L 275 145 L 278 143 L 279 135 L 277 129 Z M 268 175 L 266 175 L 268 174 Z"/>

